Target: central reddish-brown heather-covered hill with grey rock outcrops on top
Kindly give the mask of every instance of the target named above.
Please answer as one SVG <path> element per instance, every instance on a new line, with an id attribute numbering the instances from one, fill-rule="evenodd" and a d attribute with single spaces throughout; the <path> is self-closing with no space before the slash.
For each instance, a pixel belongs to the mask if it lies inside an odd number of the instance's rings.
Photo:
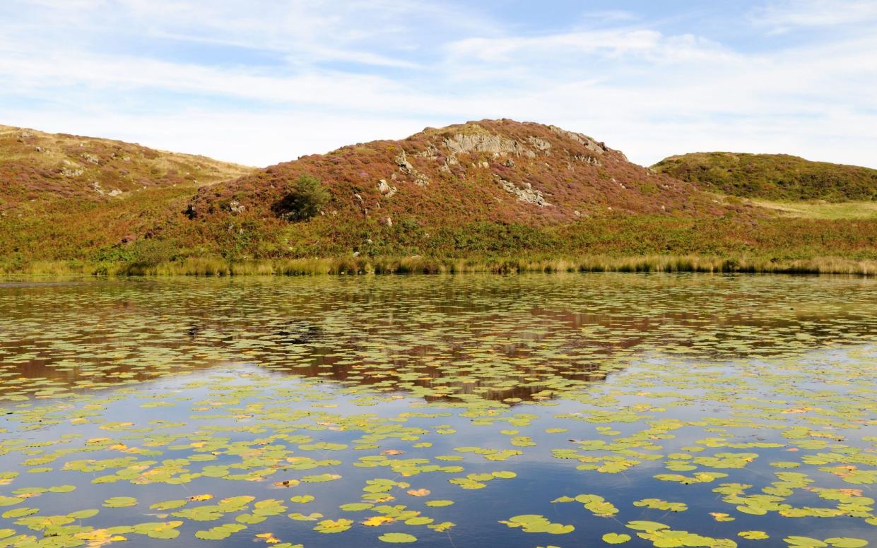
<path id="1" fill-rule="evenodd" d="M 559 224 L 617 214 L 722 215 L 695 185 L 629 162 L 581 133 L 481 120 L 399 141 L 344 146 L 200 189 L 190 217 L 276 217 L 302 174 L 332 196 L 324 215 L 392 224 Z"/>

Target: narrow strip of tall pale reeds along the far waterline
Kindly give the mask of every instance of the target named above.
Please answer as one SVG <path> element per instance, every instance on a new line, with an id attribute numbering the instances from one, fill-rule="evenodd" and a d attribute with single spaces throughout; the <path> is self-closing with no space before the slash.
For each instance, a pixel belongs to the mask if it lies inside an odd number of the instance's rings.
<path id="1" fill-rule="evenodd" d="M 335 258 L 228 261 L 189 258 L 144 266 L 130 263 L 89 263 L 78 260 L 35 261 L 0 274 L 55 276 L 239 276 L 326 274 L 464 274 L 527 272 L 702 272 L 766 274 L 877 275 L 877 260 L 816 257 L 775 260 L 754 257 L 720 258 L 699 255 L 650 255 L 639 257 L 586 256 L 564 259 L 453 258 Z"/>

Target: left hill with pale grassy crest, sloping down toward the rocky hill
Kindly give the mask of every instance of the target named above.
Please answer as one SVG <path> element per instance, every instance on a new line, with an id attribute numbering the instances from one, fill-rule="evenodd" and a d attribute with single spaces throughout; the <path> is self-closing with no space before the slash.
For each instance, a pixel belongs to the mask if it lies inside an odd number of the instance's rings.
<path id="1" fill-rule="evenodd" d="M 179 216 L 198 187 L 252 169 L 0 125 L 0 263 L 91 257 Z"/>

